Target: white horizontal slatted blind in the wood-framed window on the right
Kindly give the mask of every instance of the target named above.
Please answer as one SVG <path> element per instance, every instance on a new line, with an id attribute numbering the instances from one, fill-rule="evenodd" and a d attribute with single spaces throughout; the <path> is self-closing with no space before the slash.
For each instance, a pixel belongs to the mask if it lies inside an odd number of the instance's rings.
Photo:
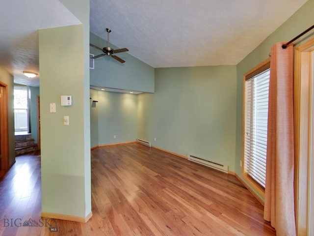
<path id="1" fill-rule="evenodd" d="M 270 70 L 245 81 L 244 172 L 265 187 Z"/>

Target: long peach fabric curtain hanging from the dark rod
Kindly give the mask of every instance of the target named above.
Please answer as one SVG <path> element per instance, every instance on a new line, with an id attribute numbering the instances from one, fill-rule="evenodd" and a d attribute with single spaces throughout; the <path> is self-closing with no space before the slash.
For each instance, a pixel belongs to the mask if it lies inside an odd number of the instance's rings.
<path id="1" fill-rule="evenodd" d="M 293 45 L 271 48 L 264 219 L 278 236 L 295 236 Z"/>

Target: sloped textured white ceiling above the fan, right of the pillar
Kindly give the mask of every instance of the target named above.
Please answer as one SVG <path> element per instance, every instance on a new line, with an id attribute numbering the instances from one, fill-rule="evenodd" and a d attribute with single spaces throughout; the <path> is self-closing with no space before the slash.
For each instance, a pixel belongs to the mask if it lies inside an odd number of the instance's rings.
<path id="1" fill-rule="evenodd" d="M 90 31 L 155 68 L 235 65 L 306 1 L 91 0 Z"/>

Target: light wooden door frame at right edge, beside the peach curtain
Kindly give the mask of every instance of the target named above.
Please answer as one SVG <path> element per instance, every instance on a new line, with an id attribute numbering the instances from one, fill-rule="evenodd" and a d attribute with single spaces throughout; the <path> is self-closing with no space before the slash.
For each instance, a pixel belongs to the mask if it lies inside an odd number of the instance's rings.
<path id="1" fill-rule="evenodd" d="M 294 51 L 294 156 L 295 156 L 295 218 L 297 235 L 310 231 L 310 173 L 312 138 L 312 88 L 314 39 Z M 312 215 L 313 217 L 313 215 Z"/>

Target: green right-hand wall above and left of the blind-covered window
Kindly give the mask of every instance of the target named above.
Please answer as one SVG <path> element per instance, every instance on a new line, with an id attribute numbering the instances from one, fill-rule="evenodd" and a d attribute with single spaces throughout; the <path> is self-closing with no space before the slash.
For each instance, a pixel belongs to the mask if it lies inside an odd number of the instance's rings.
<path id="1" fill-rule="evenodd" d="M 235 173 L 242 177 L 239 165 L 242 159 L 242 80 L 243 74 L 255 65 L 268 58 L 272 45 L 276 42 L 288 42 L 290 39 L 308 29 L 314 24 L 313 17 L 314 0 L 307 1 L 295 14 L 293 14 L 282 26 L 270 34 L 254 51 L 237 64 L 236 82 L 236 152 L 235 152 Z M 309 35 L 309 34 L 308 34 Z M 313 37 L 314 33 L 310 34 Z M 309 38 L 305 36 L 303 38 Z M 304 40 L 297 40 L 294 44 L 300 44 Z"/>

